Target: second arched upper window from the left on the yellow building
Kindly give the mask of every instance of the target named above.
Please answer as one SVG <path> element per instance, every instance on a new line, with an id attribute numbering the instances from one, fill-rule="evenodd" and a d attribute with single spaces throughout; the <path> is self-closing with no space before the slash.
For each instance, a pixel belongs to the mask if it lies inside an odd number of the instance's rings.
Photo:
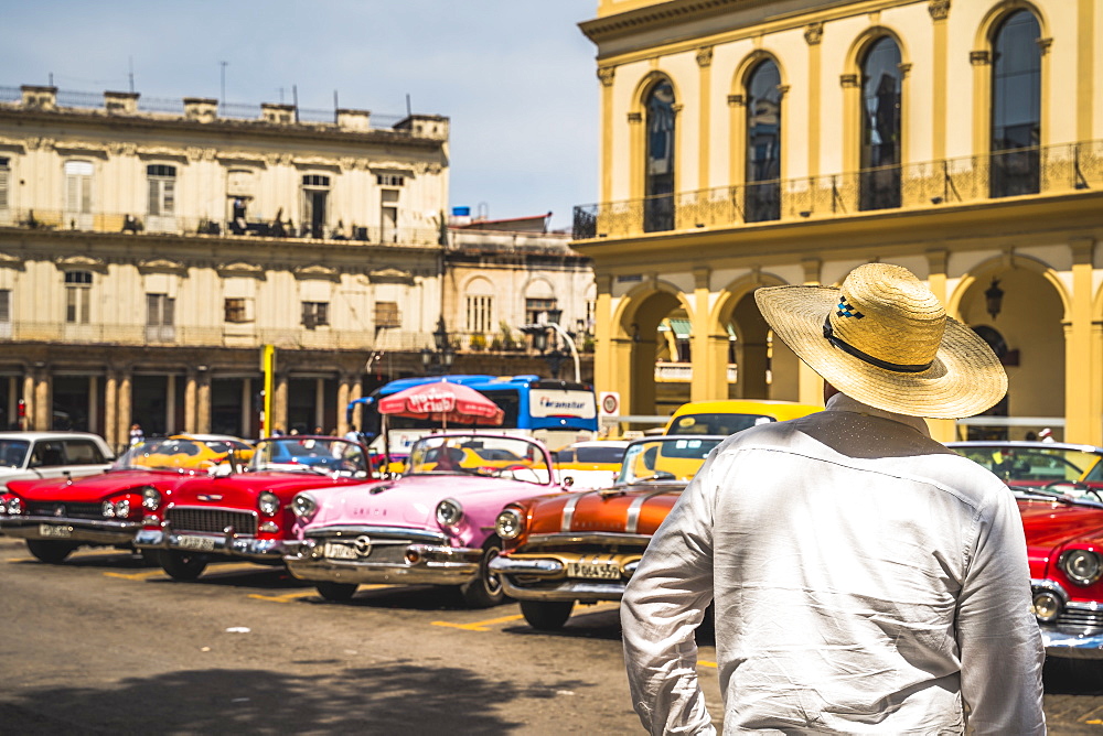
<path id="1" fill-rule="evenodd" d="M 748 223 L 781 218 L 781 73 L 771 59 L 747 78 Z"/>

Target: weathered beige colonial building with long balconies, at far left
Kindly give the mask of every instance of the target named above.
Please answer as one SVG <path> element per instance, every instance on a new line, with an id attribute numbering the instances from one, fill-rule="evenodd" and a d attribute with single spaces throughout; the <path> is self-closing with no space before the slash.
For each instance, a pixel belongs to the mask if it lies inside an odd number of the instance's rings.
<path id="1" fill-rule="evenodd" d="M 0 422 L 345 430 L 441 316 L 449 120 L 0 88 Z M 373 365 L 373 362 L 375 365 Z"/>

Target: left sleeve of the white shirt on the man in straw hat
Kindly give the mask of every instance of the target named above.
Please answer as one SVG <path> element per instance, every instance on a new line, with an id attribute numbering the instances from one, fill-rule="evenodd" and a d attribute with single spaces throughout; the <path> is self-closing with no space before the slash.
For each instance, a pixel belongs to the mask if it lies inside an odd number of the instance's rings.
<path id="1" fill-rule="evenodd" d="M 713 597 L 715 458 L 655 532 L 621 602 L 632 705 L 651 734 L 716 733 L 697 683 L 694 639 Z"/>

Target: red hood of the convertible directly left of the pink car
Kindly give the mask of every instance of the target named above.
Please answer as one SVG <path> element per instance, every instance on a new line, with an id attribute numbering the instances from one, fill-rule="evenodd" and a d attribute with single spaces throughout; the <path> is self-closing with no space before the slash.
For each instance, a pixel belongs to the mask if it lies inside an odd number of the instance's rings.
<path id="1" fill-rule="evenodd" d="M 178 505 L 215 505 L 251 510 L 257 506 L 257 497 L 265 491 L 276 494 L 286 504 L 300 490 L 363 483 L 363 478 L 334 478 L 317 473 L 239 473 L 222 477 L 195 477 L 181 485 L 172 500 Z"/>

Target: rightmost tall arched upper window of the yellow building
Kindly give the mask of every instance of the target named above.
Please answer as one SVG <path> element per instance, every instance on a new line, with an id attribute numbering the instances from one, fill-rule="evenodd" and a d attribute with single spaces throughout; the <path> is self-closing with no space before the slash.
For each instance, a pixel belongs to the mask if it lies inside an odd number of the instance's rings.
<path id="1" fill-rule="evenodd" d="M 1028 10 L 1008 15 L 992 39 L 990 194 L 1039 190 L 1041 28 Z"/>

